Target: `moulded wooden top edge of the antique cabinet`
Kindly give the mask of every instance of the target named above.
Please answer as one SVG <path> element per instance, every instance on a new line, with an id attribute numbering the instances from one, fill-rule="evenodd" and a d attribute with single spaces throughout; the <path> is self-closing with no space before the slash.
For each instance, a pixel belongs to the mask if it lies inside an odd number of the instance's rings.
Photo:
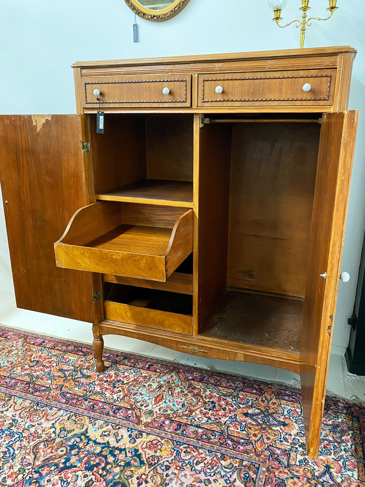
<path id="1" fill-rule="evenodd" d="M 145 57 L 140 59 L 115 59 L 104 61 L 78 61 L 71 65 L 72 68 L 90 68 L 100 66 L 124 66 L 144 64 L 166 64 L 166 63 L 194 63 L 201 61 L 225 61 L 225 60 L 246 60 L 267 57 L 302 57 L 302 56 L 323 56 L 342 53 L 357 53 L 351 46 L 316 47 L 305 49 L 284 49 L 280 51 L 256 51 L 252 53 L 229 53 L 229 54 L 204 54 L 198 56 L 172 56 L 172 57 Z"/>

